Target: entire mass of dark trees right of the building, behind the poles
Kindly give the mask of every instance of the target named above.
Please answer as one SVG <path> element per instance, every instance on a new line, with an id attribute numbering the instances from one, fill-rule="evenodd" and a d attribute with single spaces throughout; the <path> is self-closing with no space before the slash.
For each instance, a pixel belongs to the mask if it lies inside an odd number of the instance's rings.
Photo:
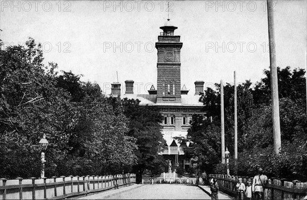
<path id="1" fill-rule="evenodd" d="M 225 145 L 231 152 L 230 171 L 239 176 L 254 176 L 258 166 L 270 177 L 307 180 L 307 116 L 304 69 L 278 67 L 278 94 L 282 148 L 273 151 L 270 71 L 254 87 L 250 81 L 237 86 L 238 160 L 234 154 L 234 86 L 224 86 Z M 206 116 L 193 116 L 188 139 L 189 157 L 201 170 L 226 174 L 221 164 L 221 93 L 207 88 L 200 101 Z M 212 117 L 212 122 L 210 120 Z M 237 167 L 236 167 L 237 166 Z M 237 169 L 237 170 L 236 170 Z"/>

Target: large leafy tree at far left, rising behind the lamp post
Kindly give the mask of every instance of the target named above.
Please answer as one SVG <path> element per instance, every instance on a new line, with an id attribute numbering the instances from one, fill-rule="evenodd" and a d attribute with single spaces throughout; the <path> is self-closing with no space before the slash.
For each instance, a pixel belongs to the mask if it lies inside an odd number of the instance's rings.
<path id="1" fill-rule="evenodd" d="M 40 174 L 39 149 L 45 133 L 51 143 L 50 157 L 65 155 L 70 130 L 75 126 L 69 94 L 55 87 L 56 65 L 42 64 L 40 46 L 33 39 L 26 47 L 0 51 L 0 127 L 2 177 L 33 177 Z"/>

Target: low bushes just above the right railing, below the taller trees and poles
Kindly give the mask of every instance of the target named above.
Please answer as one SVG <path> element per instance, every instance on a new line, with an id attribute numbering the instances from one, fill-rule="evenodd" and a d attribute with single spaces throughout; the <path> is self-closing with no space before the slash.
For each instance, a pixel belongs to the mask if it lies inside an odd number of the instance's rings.
<path id="1" fill-rule="evenodd" d="M 276 155 L 273 146 L 267 148 L 254 147 L 250 151 L 238 154 L 237 174 L 243 177 L 254 177 L 257 168 L 262 167 L 269 178 L 288 181 L 307 181 L 307 143 L 305 141 L 283 144 L 280 154 Z M 235 174 L 235 162 L 229 159 L 230 174 Z M 226 174 L 226 164 L 216 164 L 215 174 Z"/>

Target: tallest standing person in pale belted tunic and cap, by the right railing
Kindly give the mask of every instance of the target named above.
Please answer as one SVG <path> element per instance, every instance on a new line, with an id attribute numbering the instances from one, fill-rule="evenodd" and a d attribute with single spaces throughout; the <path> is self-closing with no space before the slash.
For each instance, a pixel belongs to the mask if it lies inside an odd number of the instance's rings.
<path id="1" fill-rule="evenodd" d="M 264 199 L 264 186 L 268 181 L 268 177 L 264 175 L 264 170 L 259 167 L 258 174 L 253 179 L 252 191 L 255 193 L 256 199 Z"/>

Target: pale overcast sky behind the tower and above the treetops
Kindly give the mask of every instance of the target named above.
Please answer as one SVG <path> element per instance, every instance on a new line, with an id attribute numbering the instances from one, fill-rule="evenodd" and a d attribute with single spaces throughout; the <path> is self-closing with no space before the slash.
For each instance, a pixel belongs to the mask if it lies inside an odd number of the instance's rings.
<path id="1" fill-rule="evenodd" d="M 181 86 L 194 81 L 259 81 L 268 69 L 266 1 L 169 1 L 181 36 Z M 306 68 L 307 1 L 275 1 L 277 65 Z M 83 74 L 109 93 L 109 83 L 134 80 L 157 88 L 155 42 L 168 17 L 167 1 L 1 1 L 1 39 L 43 44 L 45 63 Z M 118 46 L 114 48 L 114 46 Z M 120 47 L 121 46 L 121 47 Z M 144 87 L 147 88 L 144 88 Z"/>

